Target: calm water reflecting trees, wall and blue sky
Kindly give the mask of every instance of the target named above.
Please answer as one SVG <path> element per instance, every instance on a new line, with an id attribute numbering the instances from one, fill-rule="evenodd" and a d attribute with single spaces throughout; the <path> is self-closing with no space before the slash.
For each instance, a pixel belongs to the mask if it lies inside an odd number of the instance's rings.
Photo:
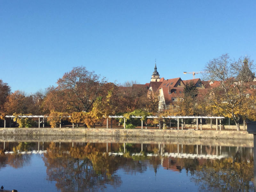
<path id="1" fill-rule="evenodd" d="M 254 191 L 253 140 L 4 139 L 4 189 Z"/>

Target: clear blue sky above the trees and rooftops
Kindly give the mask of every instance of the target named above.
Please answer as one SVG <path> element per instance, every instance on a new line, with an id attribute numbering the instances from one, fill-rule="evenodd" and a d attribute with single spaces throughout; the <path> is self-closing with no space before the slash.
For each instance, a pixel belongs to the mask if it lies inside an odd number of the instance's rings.
<path id="1" fill-rule="evenodd" d="M 76 66 L 109 82 L 192 79 L 228 53 L 256 60 L 256 1 L 1 0 L 0 79 L 34 93 Z M 201 77 L 199 74 L 196 77 Z"/>

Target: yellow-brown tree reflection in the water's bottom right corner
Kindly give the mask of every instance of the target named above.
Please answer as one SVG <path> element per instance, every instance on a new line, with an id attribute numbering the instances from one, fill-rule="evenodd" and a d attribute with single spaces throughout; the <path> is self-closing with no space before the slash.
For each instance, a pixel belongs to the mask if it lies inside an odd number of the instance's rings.
<path id="1" fill-rule="evenodd" d="M 250 182 L 253 181 L 253 157 L 248 160 L 239 150 L 233 158 L 207 160 L 205 164 L 197 165 L 194 173 L 192 180 L 201 191 L 253 190 Z"/>

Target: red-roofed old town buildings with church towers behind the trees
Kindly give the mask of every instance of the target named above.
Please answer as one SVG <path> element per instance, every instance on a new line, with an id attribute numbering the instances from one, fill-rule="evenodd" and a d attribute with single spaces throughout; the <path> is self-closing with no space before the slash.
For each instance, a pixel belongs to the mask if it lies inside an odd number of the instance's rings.
<path id="1" fill-rule="evenodd" d="M 246 74 L 246 79 L 243 81 L 250 82 L 251 89 L 256 89 L 256 78 L 255 74 L 248 67 L 248 61 L 244 60 L 243 69 L 240 71 L 239 75 L 235 78 L 235 81 L 239 81 L 240 76 Z M 146 88 L 148 91 L 148 97 L 159 97 L 158 111 L 167 109 L 173 102 L 179 101 L 183 97 L 183 90 L 186 84 L 192 82 L 198 89 L 199 94 L 205 94 L 211 88 L 217 87 L 220 85 L 220 81 L 202 81 L 200 78 L 182 80 L 180 77 L 172 79 L 160 78 L 160 75 L 157 71 L 156 64 L 154 72 L 151 75 L 150 83 L 146 84 L 133 84 L 133 88 Z M 248 90 L 250 94 L 250 90 Z"/>

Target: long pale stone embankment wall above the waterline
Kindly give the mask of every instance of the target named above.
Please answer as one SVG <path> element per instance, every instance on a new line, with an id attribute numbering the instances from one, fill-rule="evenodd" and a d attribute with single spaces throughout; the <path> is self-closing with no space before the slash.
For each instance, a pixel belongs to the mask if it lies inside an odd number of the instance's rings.
<path id="1" fill-rule="evenodd" d="M 178 137 L 178 138 L 214 138 L 214 139 L 250 139 L 253 135 L 247 131 L 216 130 L 159 130 L 159 129 L 118 129 L 120 136 L 125 137 Z M 0 128 L 0 135 L 83 135 L 83 136 L 116 136 L 116 129 L 98 128 Z"/>

